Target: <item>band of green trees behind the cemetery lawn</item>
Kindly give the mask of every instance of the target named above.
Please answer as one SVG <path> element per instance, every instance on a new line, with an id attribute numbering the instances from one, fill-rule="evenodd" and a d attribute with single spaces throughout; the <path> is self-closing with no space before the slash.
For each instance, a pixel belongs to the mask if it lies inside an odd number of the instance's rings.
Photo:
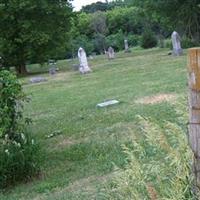
<path id="1" fill-rule="evenodd" d="M 1 0 L 0 26 L 2 66 L 14 66 L 20 74 L 27 63 L 73 57 L 80 46 L 100 54 L 108 46 L 122 50 L 124 39 L 136 46 L 167 38 L 173 30 L 189 45 L 199 45 L 200 3 L 115 0 L 73 12 L 69 0 Z"/>

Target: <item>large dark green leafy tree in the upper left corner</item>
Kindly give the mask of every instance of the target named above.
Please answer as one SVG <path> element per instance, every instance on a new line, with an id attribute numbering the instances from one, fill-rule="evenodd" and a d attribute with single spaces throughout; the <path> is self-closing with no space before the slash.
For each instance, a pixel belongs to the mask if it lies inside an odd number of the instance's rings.
<path id="1" fill-rule="evenodd" d="M 0 56 L 3 66 L 27 73 L 26 62 L 44 62 L 67 41 L 68 0 L 1 0 Z"/>

